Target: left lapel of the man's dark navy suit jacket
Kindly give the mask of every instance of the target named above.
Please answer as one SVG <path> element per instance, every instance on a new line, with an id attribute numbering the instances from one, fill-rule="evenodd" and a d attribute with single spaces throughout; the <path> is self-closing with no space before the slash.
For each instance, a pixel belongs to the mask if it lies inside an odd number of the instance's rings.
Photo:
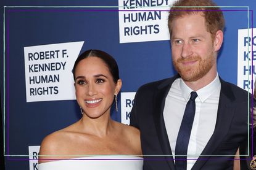
<path id="1" fill-rule="evenodd" d="M 171 153 L 170 142 L 168 140 L 167 131 L 165 128 L 165 122 L 163 120 L 163 109 L 165 106 L 165 98 L 171 88 L 171 84 L 174 82 L 179 75 L 171 79 L 165 80 L 165 82 L 161 83 L 158 87 L 158 90 L 154 96 L 154 120 L 155 120 L 155 128 L 157 130 L 157 136 L 159 137 L 159 142 L 162 147 L 162 153 L 165 156 L 165 160 L 167 161 L 170 169 L 175 169 L 175 164 L 173 161 L 173 156 Z"/>

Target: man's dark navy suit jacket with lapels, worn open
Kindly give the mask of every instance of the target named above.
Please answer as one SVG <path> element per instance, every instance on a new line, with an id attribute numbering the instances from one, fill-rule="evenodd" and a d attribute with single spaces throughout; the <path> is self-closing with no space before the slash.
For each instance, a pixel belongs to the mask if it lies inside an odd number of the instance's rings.
<path id="1" fill-rule="evenodd" d="M 163 120 L 165 98 L 179 75 L 139 88 L 131 110 L 131 126 L 141 131 L 144 169 L 175 169 L 175 163 Z M 233 169 L 233 158 L 248 139 L 248 92 L 220 79 L 221 90 L 215 130 L 195 169 Z M 175 107 L 175 106 L 173 106 Z"/>

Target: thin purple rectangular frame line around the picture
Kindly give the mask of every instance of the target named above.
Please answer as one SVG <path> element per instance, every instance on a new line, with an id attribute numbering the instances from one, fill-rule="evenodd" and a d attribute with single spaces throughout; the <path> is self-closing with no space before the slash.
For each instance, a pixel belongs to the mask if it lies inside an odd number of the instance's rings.
<path id="1" fill-rule="evenodd" d="M 112 11 L 122 11 L 122 12 L 150 12 L 150 11 L 170 11 L 170 10 L 12 10 L 9 9 L 7 10 L 7 14 L 9 14 L 10 12 L 84 12 L 84 11 L 91 11 L 91 12 L 112 12 Z M 236 12 L 240 12 L 240 11 L 250 11 L 251 12 L 251 18 L 252 18 L 252 37 L 253 37 L 253 10 L 173 10 L 173 11 L 236 11 Z M 253 45 L 252 45 L 252 51 L 253 51 Z M 252 64 L 253 64 L 253 60 L 252 60 Z M 252 75 L 252 80 L 253 80 L 253 75 Z M 253 90 L 253 89 L 252 89 Z M 252 96 L 252 107 L 253 107 L 253 96 Z M 253 114 L 252 114 L 253 115 Z M 252 117 L 252 121 L 253 121 L 253 117 Z M 252 126 L 252 157 L 253 155 L 253 126 Z M 7 15 L 7 155 L 9 155 L 9 15 Z M 13 161 L 27 161 L 27 160 L 36 160 L 36 159 L 29 159 L 29 158 L 9 158 L 9 156 L 7 156 L 7 160 L 13 160 Z M 80 159 L 77 159 L 80 160 Z M 83 160 L 83 159 L 81 159 Z M 101 159 L 95 159 L 95 160 L 101 160 Z M 104 159 L 103 159 L 104 160 Z M 105 159 L 107 160 L 107 159 Z M 112 159 L 110 159 L 112 160 Z M 118 160 L 118 159 L 117 159 Z M 127 159 L 127 160 L 134 160 L 134 159 Z M 135 159 L 137 160 L 137 159 Z M 175 160 L 173 158 L 162 158 L 162 159 L 150 159 L 150 158 L 144 158 L 144 160 Z M 176 159 L 179 160 L 179 159 Z M 215 158 L 197 158 L 197 159 L 184 159 L 184 160 L 215 160 Z M 226 160 L 248 160 L 248 159 L 226 159 Z"/>

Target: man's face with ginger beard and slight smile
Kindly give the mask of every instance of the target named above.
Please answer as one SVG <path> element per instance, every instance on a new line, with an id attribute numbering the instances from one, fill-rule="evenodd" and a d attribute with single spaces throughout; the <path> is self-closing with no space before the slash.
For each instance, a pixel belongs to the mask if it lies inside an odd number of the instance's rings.
<path id="1" fill-rule="evenodd" d="M 184 15 L 171 25 L 173 65 L 181 78 L 195 82 L 217 73 L 217 49 L 201 13 Z"/>

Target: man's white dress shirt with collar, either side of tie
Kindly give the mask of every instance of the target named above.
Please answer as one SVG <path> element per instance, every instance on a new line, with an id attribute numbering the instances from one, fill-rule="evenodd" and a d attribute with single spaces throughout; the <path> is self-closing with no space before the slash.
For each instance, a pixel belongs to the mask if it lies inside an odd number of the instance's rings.
<path id="1" fill-rule="evenodd" d="M 220 98 L 220 79 L 215 79 L 196 91 L 196 113 L 191 129 L 188 145 L 187 170 L 191 169 L 196 159 L 202 153 L 215 129 L 217 120 L 218 101 Z M 175 158 L 175 145 L 186 104 L 189 101 L 191 88 L 181 78 L 176 79 L 171 85 L 170 91 L 165 99 L 163 119 L 167 129 L 168 139 L 171 146 L 173 158 Z"/>

